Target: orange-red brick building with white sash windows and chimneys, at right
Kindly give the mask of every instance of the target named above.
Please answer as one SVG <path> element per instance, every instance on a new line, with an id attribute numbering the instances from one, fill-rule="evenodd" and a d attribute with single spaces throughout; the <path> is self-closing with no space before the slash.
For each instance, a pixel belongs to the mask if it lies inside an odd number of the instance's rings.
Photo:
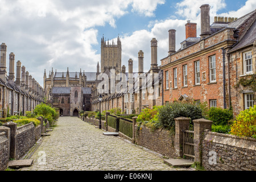
<path id="1" fill-rule="evenodd" d="M 186 39 L 176 51 L 174 29 L 169 30 L 168 56 L 161 59 L 163 102 L 192 98 L 210 107 L 233 107 L 234 114 L 254 105 L 253 90 L 235 87 L 241 77 L 255 73 L 256 11 L 241 18 L 215 17 L 201 7 L 201 35 L 196 23 L 185 24 Z"/>

